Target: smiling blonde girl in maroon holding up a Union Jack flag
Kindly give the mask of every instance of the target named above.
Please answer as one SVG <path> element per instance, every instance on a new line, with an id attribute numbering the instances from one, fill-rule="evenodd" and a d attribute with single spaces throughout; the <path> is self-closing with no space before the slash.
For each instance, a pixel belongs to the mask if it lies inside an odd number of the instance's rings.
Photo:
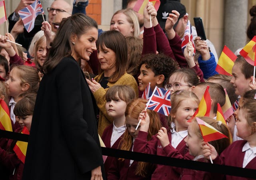
<path id="1" fill-rule="evenodd" d="M 172 94 L 171 102 L 172 109 L 168 116 L 171 130 L 168 130 L 168 140 L 180 154 L 184 155 L 188 152 L 188 147 L 184 141 L 188 135 L 189 123 L 187 121 L 192 118 L 198 108 L 199 100 L 193 92 L 180 90 Z M 144 110 L 140 113 L 139 118 L 142 121 L 138 137 L 134 141 L 134 151 L 167 156 L 168 154 L 164 151 L 160 140 L 157 138 L 157 134 L 152 136 L 151 140 L 147 140 L 148 126 L 152 119 Z M 179 177 L 180 173 L 176 172 L 172 167 L 157 164 L 151 179 L 177 180 Z"/>

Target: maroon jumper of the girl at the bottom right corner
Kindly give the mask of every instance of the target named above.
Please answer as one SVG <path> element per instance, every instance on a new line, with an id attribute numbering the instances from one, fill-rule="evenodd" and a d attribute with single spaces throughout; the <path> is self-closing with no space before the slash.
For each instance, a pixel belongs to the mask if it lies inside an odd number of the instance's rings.
<path id="1" fill-rule="evenodd" d="M 226 166 L 236 166 L 239 168 L 243 167 L 244 155 L 245 151 L 242 152 L 242 148 L 246 143 L 246 140 L 237 140 L 232 142 L 222 153 L 220 156 L 217 156 L 215 160 L 213 160 L 214 164 L 222 164 Z M 255 169 L 256 170 L 256 157 L 253 158 L 245 168 Z M 229 176 L 226 175 L 226 180 L 250 180 L 249 178 L 243 178 L 238 176 Z M 220 178 L 218 178 L 220 179 Z"/>

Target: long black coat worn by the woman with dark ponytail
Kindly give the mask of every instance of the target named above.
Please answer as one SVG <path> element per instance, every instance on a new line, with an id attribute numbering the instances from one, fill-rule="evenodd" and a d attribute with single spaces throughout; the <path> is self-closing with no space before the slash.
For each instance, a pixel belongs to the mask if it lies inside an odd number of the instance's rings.
<path id="1" fill-rule="evenodd" d="M 74 58 L 63 58 L 40 82 L 23 180 L 87 180 L 102 165 L 96 107 Z M 102 172 L 104 174 L 104 172 Z"/>

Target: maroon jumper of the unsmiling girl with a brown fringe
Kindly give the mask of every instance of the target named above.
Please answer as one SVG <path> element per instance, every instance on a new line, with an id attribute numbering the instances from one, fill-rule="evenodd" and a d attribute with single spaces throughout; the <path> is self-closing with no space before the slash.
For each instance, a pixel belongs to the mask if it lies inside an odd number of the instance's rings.
<path id="1" fill-rule="evenodd" d="M 111 140 L 111 136 L 112 136 L 112 132 L 113 132 L 113 123 L 110 124 L 108 127 L 105 128 L 103 134 L 102 134 L 102 141 L 104 142 L 106 148 L 114 148 L 117 149 L 120 140 L 122 139 L 122 136 L 120 136 L 120 138 L 118 138 L 116 140 L 116 142 L 112 145 L 112 147 L 110 146 L 110 140 Z M 104 166 L 105 166 L 105 174 L 106 177 L 108 176 L 108 170 L 111 166 L 112 160 L 114 159 L 114 157 L 108 156 L 104 162 Z"/>

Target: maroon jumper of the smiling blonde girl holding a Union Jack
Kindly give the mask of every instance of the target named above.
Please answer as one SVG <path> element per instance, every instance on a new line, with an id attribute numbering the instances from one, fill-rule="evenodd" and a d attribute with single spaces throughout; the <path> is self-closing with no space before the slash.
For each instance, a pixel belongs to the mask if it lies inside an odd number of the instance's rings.
<path id="1" fill-rule="evenodd" d="M 139 131 L 138 137 L 134 141 L 134 152 L 142 152 L 147 154 L 156 154 L 159 156 L 168 156 L 161 145 L 161 142 L 156 135 L 152 136 L 150 141 L 147 141 L 147 132 Z M 172 142 L 172 134 L 168 131 L 169 141 Z M 176 150 L 184 156 L 188 152 L 188 147 L 184 139 L 178 144 Z M 156 165 L 156 170 L 152 174 L 151 180 L 178 180 L 180 174 L 171 166 Z"/>

